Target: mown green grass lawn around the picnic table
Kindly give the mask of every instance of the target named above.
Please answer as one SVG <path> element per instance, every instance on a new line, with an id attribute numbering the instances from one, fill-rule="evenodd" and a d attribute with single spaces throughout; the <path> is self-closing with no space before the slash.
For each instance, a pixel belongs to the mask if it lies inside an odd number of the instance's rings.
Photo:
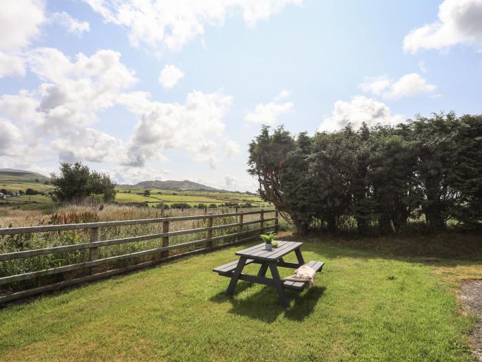
<path id="1" fill-rule="evenodd" d="M 481 262 L 303 241 L 306 261 L 326 265 L 315 287 L 286 291 L 286 310 L 274 288 L 244 281 L 224 296 L 229 279 L 211 268 L 238 246 L 8 306 L 0 359 L 474 361 L 475 318 L 455 288 L 466 274 L 481 277 Z"/>

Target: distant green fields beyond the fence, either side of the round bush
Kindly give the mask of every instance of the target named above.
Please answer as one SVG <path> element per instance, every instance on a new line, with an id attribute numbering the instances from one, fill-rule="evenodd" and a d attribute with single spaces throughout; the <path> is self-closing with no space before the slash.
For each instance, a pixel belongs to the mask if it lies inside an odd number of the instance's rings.
<path id="1" fill-rule="evenodd" d="M 39 178 L 39 182 L 35 181 L 36 176 L 32 176 L 30 173 L 22 173 L 14 175 L 14 173 L 0 172 L 0 189 L 6 189 L 12 193 L 18 193 L 19 190 L 25 192 L 26 189 L 34 189 L 47 193 L 52 190 L 52 185 L 44 184 L 47 178 Z M 216 204 L 217 206 L 223 206 L 225 203 L 246 204 L 249 202 L 252 206 L 268 207 L 269 203 L 263 202 L 256 195 L 249 195 L 246 193 L 234 193 L 227 191 L 194 191 L 194 190 L 182 190 L 171 191 L 161 189 L 150 189 L 151 195 L 144 196 L 144 189 L 138 189 L 135 187 L 118 187 L 116 194 L 116 202 L 119 203 L 144 203 L 151 207 L 155 207 L 160 203 L 171 206 L 175 203 L 186 203 L 191 206 L 198 206 L 198 204 Z M 0 200 L 0 203 L 18 204 L 24 205 L 28 202 L 28 195 L 23 195 L 21 198 L 8 198 Z M 30 202 L 36 204 L 51 205 L 54 204 L 52 198 L 48 195 L 32 195 Z"/>

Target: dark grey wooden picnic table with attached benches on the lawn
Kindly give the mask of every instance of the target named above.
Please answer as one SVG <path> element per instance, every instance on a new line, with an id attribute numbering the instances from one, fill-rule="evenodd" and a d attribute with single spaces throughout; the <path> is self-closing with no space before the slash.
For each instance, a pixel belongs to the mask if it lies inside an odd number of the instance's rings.
<path id="1" fill-rule="evenodd" d="M 300 247 L 303 245 L 302 242 L 277 242 L 278 247 L 273 248 L 272 251 L 266 251 L 264 249 L 264 243 L 251 246 L 250 248 L 243 249 L 242 251 L 237 251 L 235 255 L 240 257 L 239 260 L 218 266 L 213 268 L 213 271 L 222 275 L 224 277 L 230 277 L 229 286 L 226 290 L 228 296 L 233 295 L 234 288 L 238 283 L 238 280 L 250 281 L 251 283 L 264 284 L 266 286 L 274 286 L 278 297 L 280 299 L 280 304 L 282 306 L 289 306 L 288 299 L 284 294 L 284 288 L 290 288 L 294 290 L 302 290 L 308 284 L 307 281 L 288 281 L 282 280 L 280 273 L 278 272 L 278 266 L 284 268 L 299 268 L 304 265 L 304 259 Z M 285 262 L 283 257 L 289 253 L 294 252 L 296 255 L 297 263 Z M 244 266 L 248 264 L 260 264 L 260 270 L 258 275 L 251 275 L 242 273 Z M 315 271 L 319 272 L 322 270 L 323 262 L 308 262 L 306 265 L 311 266 Z M 266 271 L 271 271 L 271 277 L 266 277 Z"/>

